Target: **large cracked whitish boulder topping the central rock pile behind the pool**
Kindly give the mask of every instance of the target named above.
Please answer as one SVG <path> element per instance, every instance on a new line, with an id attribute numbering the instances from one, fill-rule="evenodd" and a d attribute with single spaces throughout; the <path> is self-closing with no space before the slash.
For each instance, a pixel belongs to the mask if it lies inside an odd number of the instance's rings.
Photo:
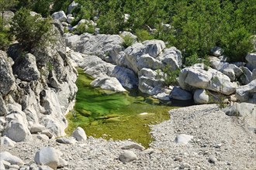
<path id="1" fill-rule="evenodd" d="M 182 54 L 175 47 L 165 49 L 161 40 L 148 40 L 134 43 L 124 50 L 126 54 L 123 59 L 123 66 L 126 66 L 138 73 L 143 68 L 152 70 L 164 69 L 177 70 L 182 66 Z"/>

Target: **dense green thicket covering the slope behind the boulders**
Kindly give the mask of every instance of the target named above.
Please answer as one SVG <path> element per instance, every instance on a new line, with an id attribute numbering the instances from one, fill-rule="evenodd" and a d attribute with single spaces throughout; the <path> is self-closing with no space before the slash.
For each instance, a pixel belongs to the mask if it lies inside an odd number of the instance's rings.
<path id="1" fill-rule="evenodd" d="M 47 17 L 64 10 L 71 0 L 0 0 L 1 10 L 29 8 Z M 76 25 L 80 19 L 95 19 L 101 33 L 130 31 L 140 41 L 162 39 L 176 46 L 185 56 L 185 65 L 199 63 L 213 46 L 220 46 L 230 62 L 244 61 L 256 34 L 254 0 L 75 0 L 78 7 L 71 12 Z M 8 5 L 6 5 L 8 4 Z M 124 21 L 124 14 L 130 18 Z M 171 27 L 163 25 L 169 24 Z M 78 28 L 79 29 L 79 28 Z M 154 31 L 153 31 L 154 30 Z M 79 32 L 93 32 L 92 28 Z M 8 34 L 3 32 L 2 34 Z M 1 43 L 6 36 L 1 34 Z M 1 44 L 0 44 L 1 45 Z"/>

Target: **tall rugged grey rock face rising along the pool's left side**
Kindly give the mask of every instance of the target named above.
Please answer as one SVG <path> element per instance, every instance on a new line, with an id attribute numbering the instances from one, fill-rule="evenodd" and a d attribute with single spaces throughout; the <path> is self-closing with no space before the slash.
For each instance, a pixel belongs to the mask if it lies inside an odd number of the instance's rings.
<path id="1" fill-rule="evenodd" d="M 0 52 L 0 116 L 2 134 L 12 141 L 27 141 L 31 133 L 48 131 L 50 136 L 64 135 L 64 115 L 73 106 L 77 72 L 65 53 L 61 28 L 53 23 L 56 41 L 37 46 L 31 53 L 19 53 L 12 45 L 8 59 Z M 11 67 L 12 66 L 12 67 Z"/>

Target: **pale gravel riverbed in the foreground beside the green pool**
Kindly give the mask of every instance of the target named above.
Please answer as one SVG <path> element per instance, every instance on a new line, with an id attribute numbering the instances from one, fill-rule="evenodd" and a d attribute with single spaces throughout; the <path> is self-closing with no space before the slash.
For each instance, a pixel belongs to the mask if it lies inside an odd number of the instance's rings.
<path id="1" fill-rule="evenodd" d="M 216 104 L 195 105 L 170 110 L 171 119 L 152 126 L 150 148 L 131 148 L 137 160 L 119 161 L 122 147 L 133 141 L 106 141 L 88 137 L 74 145 L 55 140 L 17 143 L 3 147 L 28 165 L 43 146 L 61 151 L 67 166 L 61 169 L 256 169 L 256 134 L 247 131 L 239 117 L 224 114 Z M 244 120 L 246 121 L 246 120 Z M 188 144 L 178 144 L 178 134 L 188 134 Z"/>

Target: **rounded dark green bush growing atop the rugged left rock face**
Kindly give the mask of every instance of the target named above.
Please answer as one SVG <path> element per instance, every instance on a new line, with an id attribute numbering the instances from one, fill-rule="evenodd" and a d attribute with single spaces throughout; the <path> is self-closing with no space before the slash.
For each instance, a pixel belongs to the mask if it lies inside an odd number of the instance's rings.
<path id="1" fill-rule="evenodd" d="M 35 46 L 44 46 L 50 40 L 50 19 L 40 15 L 32 16 L 26 8 L 21 8 L 12 19 L 11 32 L 26 51 Z"/>

